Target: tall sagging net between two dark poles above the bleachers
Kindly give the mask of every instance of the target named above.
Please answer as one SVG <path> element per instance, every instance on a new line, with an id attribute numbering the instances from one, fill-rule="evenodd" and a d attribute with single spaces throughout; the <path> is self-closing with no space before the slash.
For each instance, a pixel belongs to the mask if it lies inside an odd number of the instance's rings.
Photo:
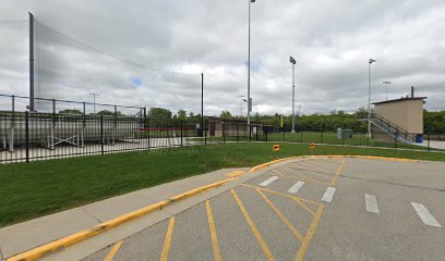
<path id="1" fill-rule="evenodd" d="M 141 52 L 134 50 L 134 60 Z M 37 20 L 35 67 L 36 97 L 87 102 L 95 98 L 96 103 L 201 112 L 201 74 L 173 73 L 122 59 L 113 50 L 92 47 Z M 35 108 L 48 111 L 51 103 L 36 100 Z"/>

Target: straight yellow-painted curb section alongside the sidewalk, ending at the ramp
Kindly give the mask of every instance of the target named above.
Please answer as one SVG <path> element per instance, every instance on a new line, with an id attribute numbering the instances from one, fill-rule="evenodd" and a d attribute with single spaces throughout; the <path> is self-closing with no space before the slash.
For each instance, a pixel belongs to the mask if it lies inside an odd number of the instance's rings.
<path id="1" fill-rule="evenodd" d="M 109 220 L 107 222 L 100 223 L 98 225 L 92 226 L 92 227 L 86 228 L 84 231 L 74 233 L 74 234 L 69 235 L 67 237 L 62 237 L 62 238 L 60 238 L 60 239 L 58 239 L 56 241 L 48 243 L 48 244 L 43 245 L 40 247 L 31 249 L 31 250 L 28 250 L 26 252 L 19 253 L 16 256 L 10 257 L 10 258 L 5 259 L 5 261 L 31 261 L 31 260 L 36 260 L 38 258 L 44 257 L 45 254 L 60 251 L 60 250 L 62 250 L 62 249 L 64 249 L 67 247 L 70 247 L 70 246 L 72 246 L 72 245 L 74 245 L 76 243 L 83 241 L 83 240 L 85 240 L 85 239 L 87 239 L 89 237 L 93 237 L 93 236 L 97 235 L 97 234 L 104 233 L 104 232 L 106 232 L 108 229 L 111 229 L 111 228 L 113 228 L 116 226 L 122 225 L 122 224 L 124 224 L 127 222 L 130 222 L 132 220 L 141 217 L 143 215 L 153 213 L 153 212 L 155 212 L 157 210 L 161 210 L 163 208 L 165 208 L 165 207 L 167 207 L 167 206 L 169 206 L 169 204 L 171 204 L 171 203 L 173 203 L 176 201 L 180 201 L 180 200 L 189 198 L 189 197 L 191 197 L 193 195 L 196 195 L 196 194 L 200 194 L 200 192 L 204 192 L 204 191 L 220 187 L 224 184 L 226 184 L 228 182 L 231 182 L 233 179 L 236 179 L 236 177 L 231 177 L 231 178 L 227 178 L 227 179 L 219 181 L 219 182 L 216 182 L 216 183 L 212 183 L 212 184 L 208 184 L 208 185 L 205 185 L 205 186 L 189 190 L 187 192 L 173 196 L 168 200 L 164 200 L 164 201 L 147 206 L 145 208 L 135 210 L 133 212 L 120 215 L 120 216 L 118 216 L 116 219 L 112 219 L 112 220 Z"/>

